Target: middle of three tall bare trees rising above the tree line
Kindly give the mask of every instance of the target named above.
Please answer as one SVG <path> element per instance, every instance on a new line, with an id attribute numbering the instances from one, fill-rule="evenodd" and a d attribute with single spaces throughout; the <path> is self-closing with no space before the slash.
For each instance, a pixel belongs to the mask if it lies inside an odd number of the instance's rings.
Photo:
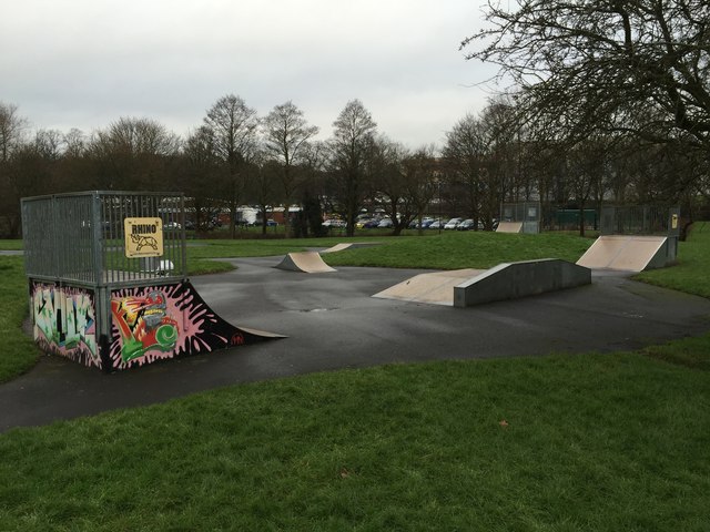
<path id="1" fill-rule="evenodd" d="M 318 133 L 318 129 L 315 125 L 308 125 L 303 117 L 303 111 L 288 101 L 276 105 L 266 115 L 263 121 L 263 131 L 267 156 L 281 166 L 284 225 L 286 237 L 288 237 L 288 207 L 294 203 L 298 188 L 297 165 L 304 160 L 308 140 Z"/>

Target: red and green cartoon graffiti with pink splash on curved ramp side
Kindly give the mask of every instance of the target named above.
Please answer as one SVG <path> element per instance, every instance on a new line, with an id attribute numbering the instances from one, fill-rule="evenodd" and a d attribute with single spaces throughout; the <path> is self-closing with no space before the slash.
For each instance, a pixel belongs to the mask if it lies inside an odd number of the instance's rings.
<path id="1" fill-rule="evenodd" d="M 264 339 L 219 317 L 190 282 L 111 293 L 113 369 Z"/>

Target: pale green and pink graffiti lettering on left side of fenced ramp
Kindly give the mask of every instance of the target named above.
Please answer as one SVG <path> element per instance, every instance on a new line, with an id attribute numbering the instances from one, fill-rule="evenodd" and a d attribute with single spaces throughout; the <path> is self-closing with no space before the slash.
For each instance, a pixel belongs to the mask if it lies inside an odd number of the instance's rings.
<path id="1" fill-rule="evenodd" d="M 34 341 L 47 352 L 101 367 L 91 290 L 30 283 Z"/>

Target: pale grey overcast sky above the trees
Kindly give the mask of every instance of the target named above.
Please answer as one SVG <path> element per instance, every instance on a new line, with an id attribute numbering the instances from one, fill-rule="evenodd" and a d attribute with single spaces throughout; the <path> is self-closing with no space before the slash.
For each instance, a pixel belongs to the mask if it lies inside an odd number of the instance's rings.
<path id="1" fill-rule="evenodd" d="M 489 96 L 466 61 L 479 0 L 0 0 L 0 102 L 33 130 L 148 117 L 186 135 L 221 96 L 260 115 L 292 100 L 331 136 L 359 99 L 409 147 Z"/>

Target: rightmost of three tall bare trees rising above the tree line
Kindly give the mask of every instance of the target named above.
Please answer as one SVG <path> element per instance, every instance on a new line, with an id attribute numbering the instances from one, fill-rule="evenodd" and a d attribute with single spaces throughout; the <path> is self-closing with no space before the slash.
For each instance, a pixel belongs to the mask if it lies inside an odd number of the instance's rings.
<path id="1" fill-rule="evenodd" d="M 351 100 L 333 122 L 333 127 L 332 190 L 345 214 L 346 234 L 353 236 L 355 219 L 367 191 L 367 164 L 377 124 L 359 100 Z"/>

